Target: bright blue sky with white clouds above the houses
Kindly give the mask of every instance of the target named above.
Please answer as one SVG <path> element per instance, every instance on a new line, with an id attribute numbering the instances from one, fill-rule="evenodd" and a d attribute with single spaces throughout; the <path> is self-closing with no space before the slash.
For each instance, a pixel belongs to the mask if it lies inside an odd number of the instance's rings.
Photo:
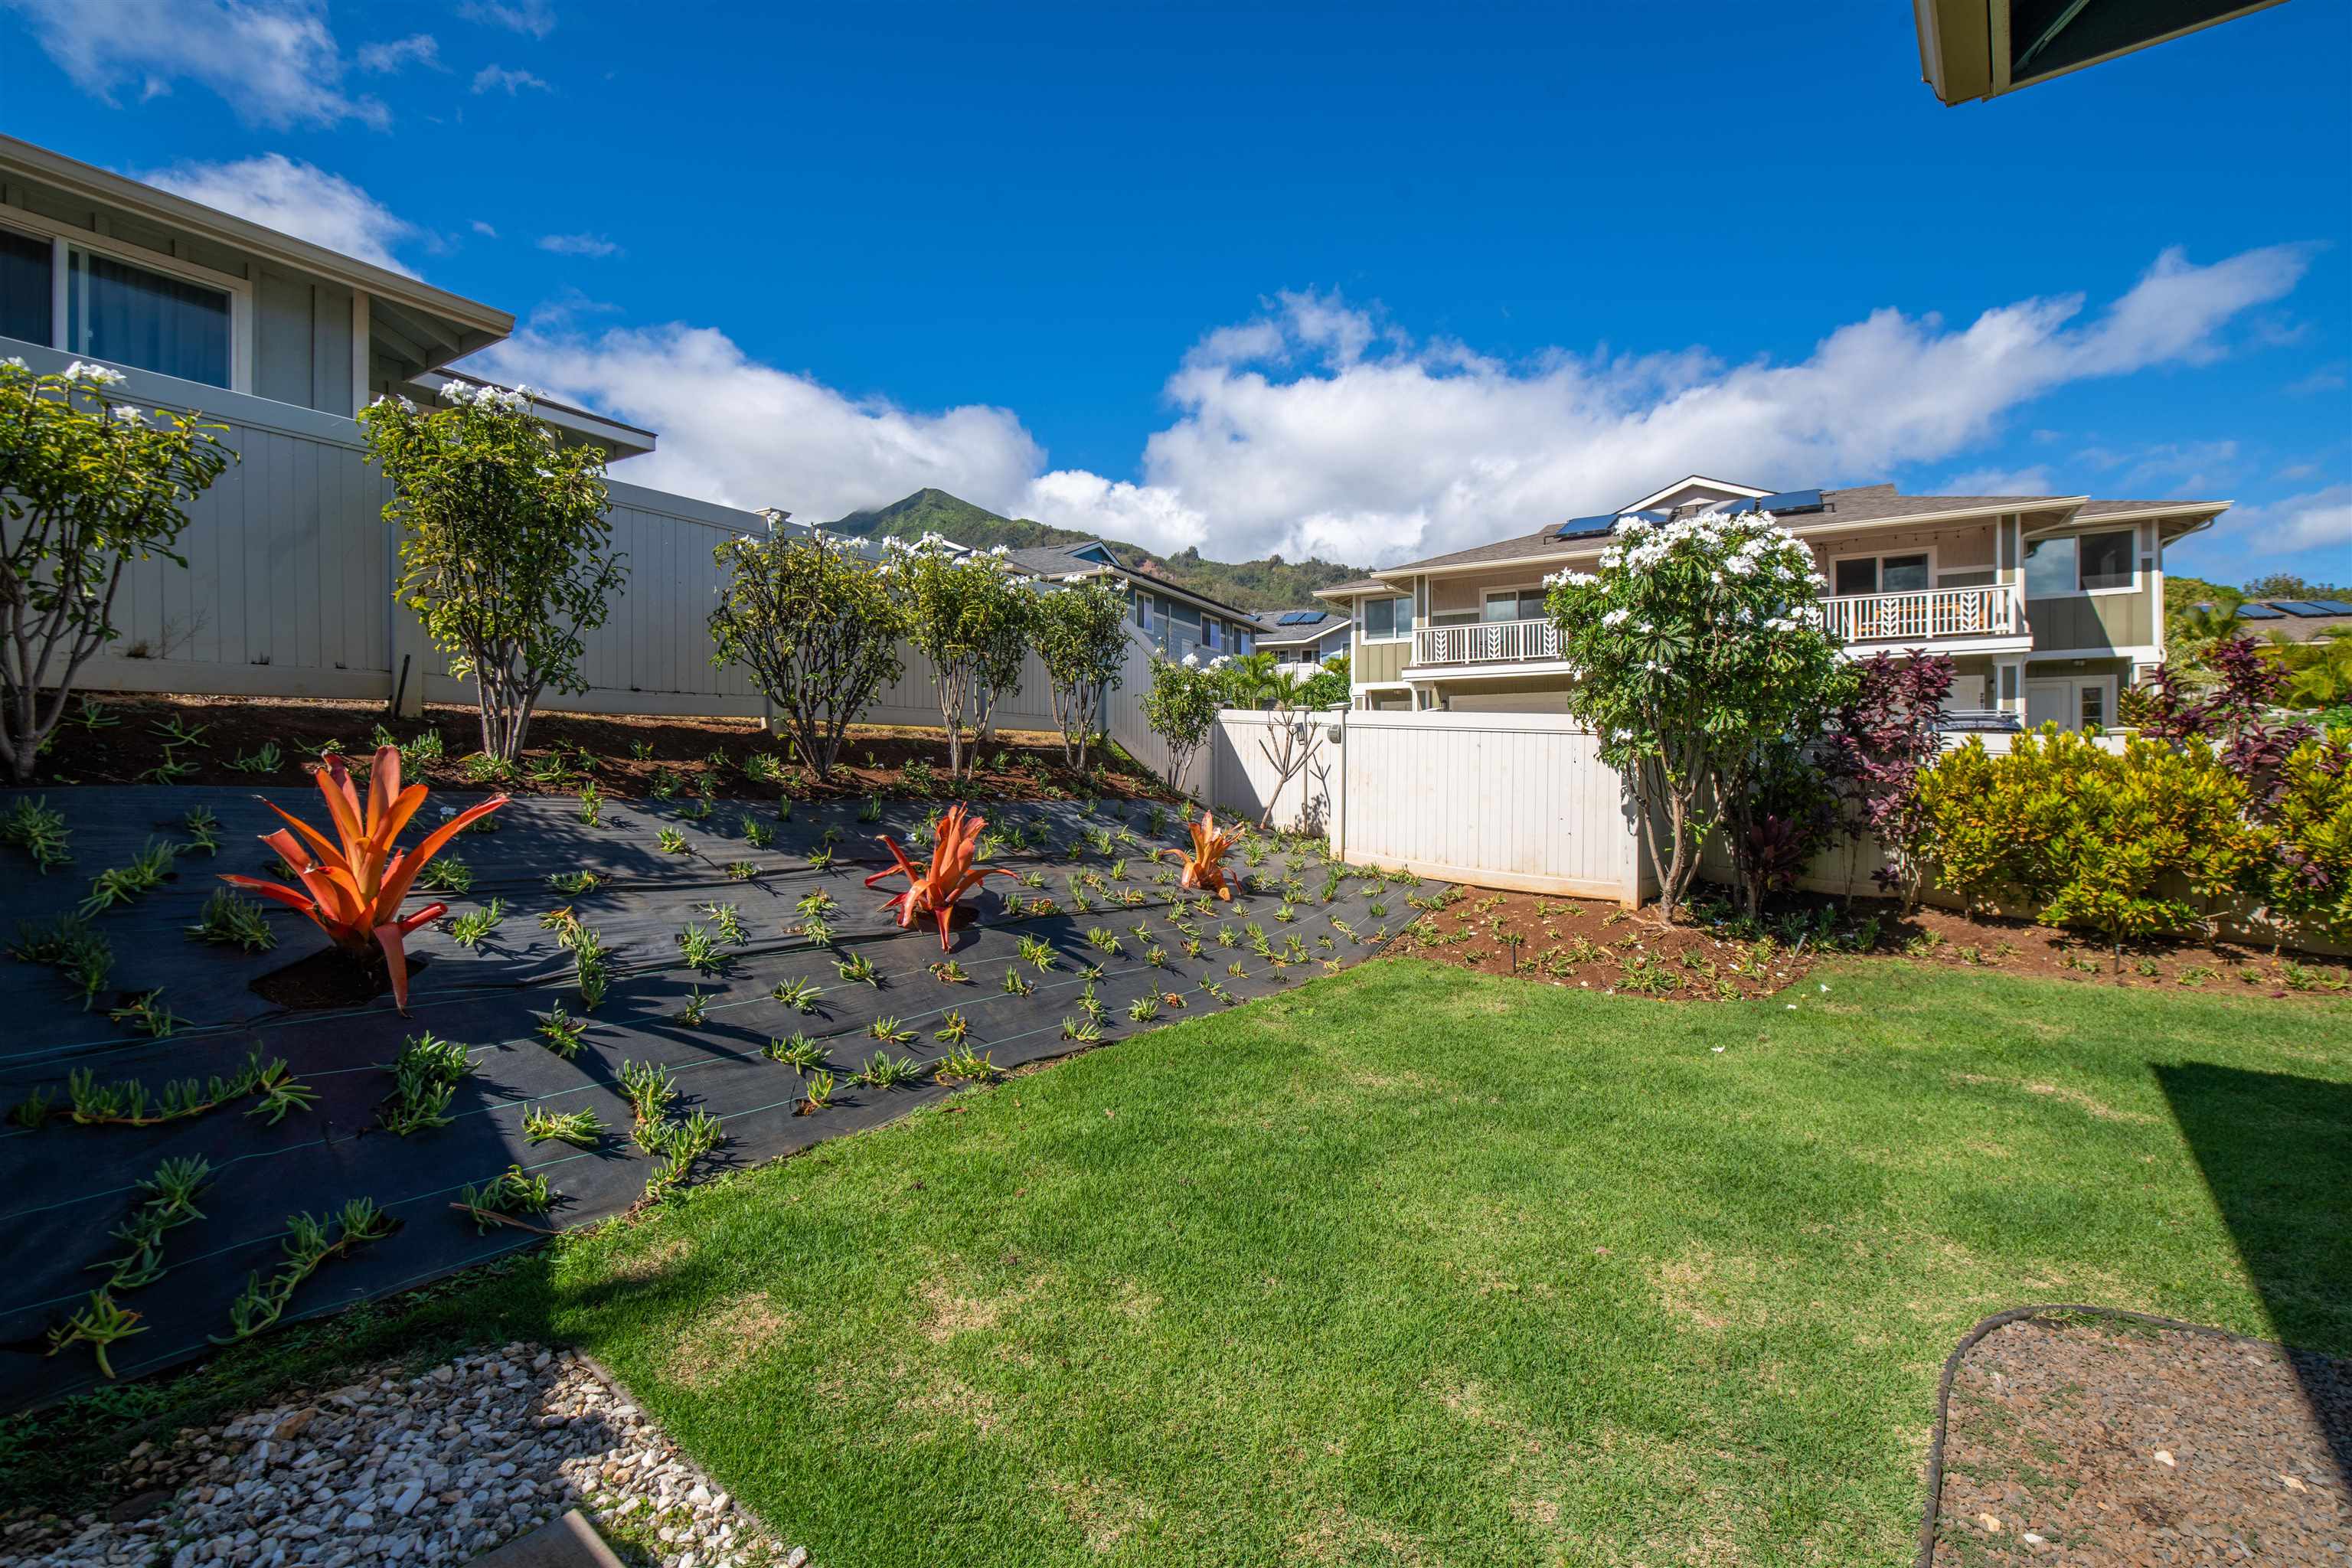
<path id="1" fill-rule="evenodd" d="M 2352 581 L 2338 0 L 1964 108 L 1884 2 L 654 14 L 0 0 L 0 129 L 802 517 L 1367 564 L 1705 470 L 2232 496 L 2173 569 Z"/>

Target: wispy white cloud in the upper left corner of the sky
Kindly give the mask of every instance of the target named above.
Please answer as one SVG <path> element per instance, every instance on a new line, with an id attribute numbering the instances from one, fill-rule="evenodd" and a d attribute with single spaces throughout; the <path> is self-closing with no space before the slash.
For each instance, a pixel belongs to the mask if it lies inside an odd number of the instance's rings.
<path id="1" fill-rule="evenodd" d="M 221 94 L 252 125 L 383 129 L 390 110 L 343 94 L 343 56 L 320 7 L 301 0 L 0 0 L 78 87 L 113 103 L 179 80 Z"/>

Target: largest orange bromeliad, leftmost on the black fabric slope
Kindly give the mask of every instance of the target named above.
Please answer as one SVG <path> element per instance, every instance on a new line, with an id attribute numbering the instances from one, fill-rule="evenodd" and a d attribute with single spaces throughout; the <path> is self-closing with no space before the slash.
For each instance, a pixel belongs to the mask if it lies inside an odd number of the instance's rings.
<path id="1" fill-rule="evenodd" d="M 313 778 L 318 780 L 318 792 L 327 797 L 327 816 L 341 844 L 301 818 L 278 811 L 278 806 L 270 806 L 270 811 L 287 818 L 287 825 L 301 839 L 285 827 L 261 835 L 263 844 L 275 849 L 287 865 L 296 867 L 294 875 L 306 891 L 296 893 L 278 882 L 230 877 L 226 872 L 221 882 L 275 898 L 289 910 L 301 910 L 343 952 L 365 957 L 372 947 L 381 950 L 393 971 L 393 1001 L 407 1013 L 409 959 L 400 943 L 426 922 L 447 914 L 449 905 L 428 903 L 416 914 L 402 919 L 400 900 L 409 896 L 409 884 L 416 882 L 416 872 L 426 867 L 426 860 L 437 856 L 468 823 L 503 806 L 506 797 L 494 795 L 480 806 L 459 811 L 428 832 L 423 844 L 400 851 L 393 849 L 393 839 L 409 825 L 416 809 L 426 804 L 426 788 L 400 788 L 397 750 L 386 745 L 376 752 L 376 762 L 367 776 L 365 809 L 360 806 L 360 792 L 350 785 L 350 769 L 343 766 L 341 757 L 327 757 L 327 766 L 313 773 Z M 268 806 L 268 802 L 261 804 Z"/>

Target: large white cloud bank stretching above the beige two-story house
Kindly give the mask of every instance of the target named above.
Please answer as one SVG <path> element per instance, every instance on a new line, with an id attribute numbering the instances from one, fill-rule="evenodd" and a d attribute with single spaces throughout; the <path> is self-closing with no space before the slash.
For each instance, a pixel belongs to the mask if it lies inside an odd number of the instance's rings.
<path id="1" fill-rule="evenodd" d="M 1216 555 L 1378 564 L 1597 512 L 1693 470 L 1879 480 L 1980 444 L 2072 381 L 2213 360 L 2232 317 L 2291 292 L 2305 263 L 2300 247 L 2213 266 L 2164 252 L 2096 315 L 2082 296 L 2025 299 L 1955 329 L 1889 308 L 1795 364 L 1703 350 L 1505 364 L 1454 341 L 1414 346 L 1331 296 L 1284 294 L 1209 334 L 1169 378 L 1181 414 L 1145 444 L 1143 484 L 1171 501 L 1120 496 L 1120 512 L 1207 517 Z"/>

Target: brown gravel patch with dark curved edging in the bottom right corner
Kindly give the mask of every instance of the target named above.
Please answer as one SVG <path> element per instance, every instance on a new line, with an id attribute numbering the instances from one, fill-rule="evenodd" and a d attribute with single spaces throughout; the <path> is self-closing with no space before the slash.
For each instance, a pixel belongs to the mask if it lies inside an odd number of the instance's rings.
<path id="1" fill-rule="evenodd" d="M 2032 1316 L 1962 1359 L 1943 1455 L 1936 1568 L 2352 1568 L 2352 1361 Z"/>

